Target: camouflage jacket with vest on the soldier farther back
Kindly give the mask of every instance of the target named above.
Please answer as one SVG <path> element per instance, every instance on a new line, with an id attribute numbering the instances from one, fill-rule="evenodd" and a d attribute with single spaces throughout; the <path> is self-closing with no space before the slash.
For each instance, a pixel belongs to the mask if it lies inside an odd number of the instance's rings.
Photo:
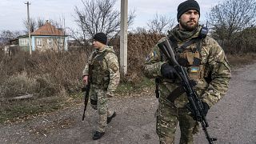
<path id="1" fill-rule="evenodd" d="M 92 86 L 106 90 L 106 94 L 113 96 L 120 80 L 118 58 L 113 47 L 106 46 L 102 51 L 94 50 L 82 75 L 88 75 L 89 65 L 93 65 Z"/>

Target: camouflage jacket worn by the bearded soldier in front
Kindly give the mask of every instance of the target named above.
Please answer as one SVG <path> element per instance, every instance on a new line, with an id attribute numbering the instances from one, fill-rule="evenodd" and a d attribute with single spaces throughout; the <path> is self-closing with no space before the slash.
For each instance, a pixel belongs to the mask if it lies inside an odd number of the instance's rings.
<path id="1" fill-rule="evenodd" d="M 163 42 L 166 38 L 162 38 L 158 43 Z M 178 47 L 182 46 L 184 42 L 178 42 Z M 188 47 L 193 47 L 194 43 Z M 197 85 L 194 89 L 198 93 L 198 97 L 202 98 L 202 102 L 206 102 L 209 106 L 213 106 L 218 102 L 228 90 L 230 82 L 230 65 L 226 60 L 226 56 L 222 47 L 218 45 L 213 38 L 206 36 L 202 39 L 201 51 L 201 65 L 204 73 L 201 79 L 198 79 Z M 177 107 L 183 107 L 188 102 L 186 94 L 180 95 L 174 102 L 169 102 L 166 97 L 178 87 L 178 80 L 172 81 L 170 79 L 162 78 L 161 66 L 166 61 L 163 60 L 162 54 L 158 48 L 158 44 L 154 46 L 150 54 L 146 58 L 144 66 L 144 74 L 147 78 L 160 78 L 159 83 L 159 101 L 166 102 L 166 104 L 174 104 Z M 206 78 L 211 78 L 210 82 L 206 82 Z"/>

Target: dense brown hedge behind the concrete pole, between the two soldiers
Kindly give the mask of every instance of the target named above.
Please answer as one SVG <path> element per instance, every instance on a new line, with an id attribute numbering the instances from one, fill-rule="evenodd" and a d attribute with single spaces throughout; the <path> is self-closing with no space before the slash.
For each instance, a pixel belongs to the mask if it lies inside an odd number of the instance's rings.
<path id="1" fill-rule="evenodd" d="M 146 56 L 160 38 L 162 38 L 162 35 L 154 33 L 128 34 L 128 71 L 126 78 L 121 79 L 122 82 L 138 82 L 142 80 L 142 69 Z M 114 46 L 114 50 L 117 52 L 118 58 L 120 58 L 119 38 L 110 42 L 110 45 Z"/>

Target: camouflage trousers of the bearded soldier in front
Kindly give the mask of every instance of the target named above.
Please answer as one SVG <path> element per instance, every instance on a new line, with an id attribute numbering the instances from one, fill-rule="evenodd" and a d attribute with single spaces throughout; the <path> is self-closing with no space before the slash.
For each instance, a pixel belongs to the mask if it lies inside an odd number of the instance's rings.
<path id="1" fill-rule="evenodd" d="M 181 144 L 194 143 L 193 134 L 198 133 L 198 122 L 189 115 L 190 111 L 184 108 L 177 108 L 172 103 L 161 101 L 157 110 L 156 131 L 160 144 L 174 143 L 174 136 L 179 122 L 181 130 Z"/>

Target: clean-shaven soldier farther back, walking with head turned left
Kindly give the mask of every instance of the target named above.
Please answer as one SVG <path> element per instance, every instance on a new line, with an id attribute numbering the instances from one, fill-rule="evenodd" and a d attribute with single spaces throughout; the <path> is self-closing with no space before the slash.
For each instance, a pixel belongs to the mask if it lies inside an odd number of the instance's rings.
<path id="1" fill-rule="evenodd" d="M 83 82 L 87 84 L 89 65 L 92 69 L 92 82 L 90 87 L 90 105 L 98 110 L 98 130 L 94 133 L 93 139 L 102 138 L 105 134 L 106 125 L 115 117 L 116 113 L 110 110 L 107 105 L 109 98 L 114 96 L 118 86 L 120 73 L 118 58 L 114 54 L 112 46 L 106 46 L 106 34 L 94 35 L 94 52 L 90 55 L 89 61 L 82 72 Z"/>

